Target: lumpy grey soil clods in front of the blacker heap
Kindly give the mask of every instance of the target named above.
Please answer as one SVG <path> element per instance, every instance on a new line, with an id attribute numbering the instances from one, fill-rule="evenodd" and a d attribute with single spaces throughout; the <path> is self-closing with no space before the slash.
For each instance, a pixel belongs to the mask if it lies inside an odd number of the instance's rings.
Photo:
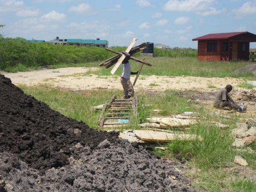
<path id="1" fill-rule="evenodd" d="M 12 154 L 0 153 L 5 189 L 13 187 L 15 191 L 26 192 L 202 191 L 193 189 L 188 178 L 172 166 L 174 162 L 164 164 L 151 157 L 142 146 L 133 147 L 127 140 L 119 139 L 115 144 L 103 141 L 95 150 L 78 143 L 70 150 L 69 165 L 39 172 Z M 79 157 L 75 157 L 77 154 Z"/>

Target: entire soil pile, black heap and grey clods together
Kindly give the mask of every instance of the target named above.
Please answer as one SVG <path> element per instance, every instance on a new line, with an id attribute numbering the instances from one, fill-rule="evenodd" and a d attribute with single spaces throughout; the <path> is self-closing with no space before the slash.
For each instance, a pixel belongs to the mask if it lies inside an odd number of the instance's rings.
<path id="1" fill-rule="evenodd" d="M 0 192 L 203 192 L 117 134 L 51 110 L 0 75 Z"/>

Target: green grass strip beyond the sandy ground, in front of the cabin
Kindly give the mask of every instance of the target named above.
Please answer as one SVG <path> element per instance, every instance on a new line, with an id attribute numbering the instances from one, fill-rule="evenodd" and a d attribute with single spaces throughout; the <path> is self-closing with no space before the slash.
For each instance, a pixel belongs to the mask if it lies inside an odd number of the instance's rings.
<path id="1" fill-rule="evenodd" d="M 138 57 L 140 58 L 140 57 Z M 143 58 L 140 58 L 143 59 Z M 218 61 L 198 61 L 197 58 L 190 57 L 177 57 L 177 58 L 146 58 L 146 61 L 153 64 L 152 67 L 147 65 L 143 66 L 140 73 L 140 79 L 143 76 L 197 76 L 197 77 L 236 77 L 236 78 L 250 78 L 254 77 L 253 73 L 242 73 L 235 75 L 232 72 L 251 64 L 246 61 L 236 62 L 218 62 Z M 99 67 L 100 62 L 79 64 L 79 67 Z M 131 71 L 138 71 L 140 63 L 130 60 Z M 70 65 L 74 66 L 74 65 Z M 110 71 L 113 67 L 106 69 L 99 67 L 95 73 L 98 76 L 111 76 Z M 121 67 L 116 70 L 116 74 L 121 74 Z M 86 74 L 90 74 L 87 72 Z M 213 87 L 214 88 L 214 87 Z"/>

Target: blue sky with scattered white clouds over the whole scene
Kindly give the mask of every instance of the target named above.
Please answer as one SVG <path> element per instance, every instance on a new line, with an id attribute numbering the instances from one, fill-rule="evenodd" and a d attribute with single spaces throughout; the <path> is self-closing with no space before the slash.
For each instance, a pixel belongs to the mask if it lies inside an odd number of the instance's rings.
<path id="1" fill-rule="evenodd" d="M 10 38 L 197 48 L 192 39 L 210 33 L 256 34 L 256 0 L 0 0 L 0 24 Z"/>

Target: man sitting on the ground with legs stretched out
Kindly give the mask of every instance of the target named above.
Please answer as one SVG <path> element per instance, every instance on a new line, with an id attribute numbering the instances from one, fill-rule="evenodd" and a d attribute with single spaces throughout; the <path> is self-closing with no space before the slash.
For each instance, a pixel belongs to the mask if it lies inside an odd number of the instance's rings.
<path id="1" fill-rule="evenodd" d="M 231 96 L 227 94 L 227 93 L 230 93 L 232 89 L 233 87 L 230 84 L 228 84 L 224 89 L 219 90 L 214 98 L 213 107 L 215 108 L 229 107 L 229 108 L 236 109 L 236 111 L 238 112 L 246 113 L 247 103 L 244 104 L 244 107 L 242 107 L 243 103 L 241 103 L 240 105 L 236 105 L 233 99 L 231 98 Z"/>

